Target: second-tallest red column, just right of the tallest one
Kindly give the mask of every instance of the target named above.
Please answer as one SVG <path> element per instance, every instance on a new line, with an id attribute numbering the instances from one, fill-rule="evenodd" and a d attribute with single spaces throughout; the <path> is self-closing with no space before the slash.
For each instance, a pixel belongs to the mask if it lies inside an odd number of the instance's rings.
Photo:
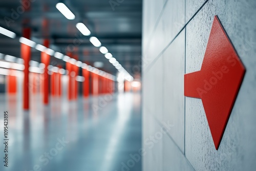
<path id="1" fill-rule="evenodd" d="M 49 47 L 49 40 L 46 39 L 44 41 L 44 46 Z M 49 74 L 48 74 L 48 66 L 50 65 L 50 55 L 45 52 L 41 52 L 41 62 L 45 64 L 45 72 L 44 72 L 44 103 L 49 103 Z"/>

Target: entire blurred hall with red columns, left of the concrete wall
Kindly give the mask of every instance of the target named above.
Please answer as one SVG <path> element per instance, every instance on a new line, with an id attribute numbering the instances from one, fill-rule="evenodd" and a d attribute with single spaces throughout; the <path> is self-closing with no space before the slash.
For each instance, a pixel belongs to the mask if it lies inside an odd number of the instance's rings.
<path id="1" fill-rule="evenodd" d="M 0 170 L 141 170 L 142 1 L 1 1 L 0 33 Z"/>

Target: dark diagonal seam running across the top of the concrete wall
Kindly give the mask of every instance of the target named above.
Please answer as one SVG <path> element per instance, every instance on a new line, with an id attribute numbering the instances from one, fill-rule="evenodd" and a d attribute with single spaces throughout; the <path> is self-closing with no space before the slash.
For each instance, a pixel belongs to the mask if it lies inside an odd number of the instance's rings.
<path id="1" fill-rule="evenodd" d="M 197 13 L 204 7 L 204 5 L 208 2 L 209 0 L 206 0 L 204 4 L 197 10 L 197 12 L 188 20 L 188 22 L 182 27 L 182 29 L 176 34 L 176 36 L 169 42 L 169 44 L 153 59 L 153 61 L 143 70 L 143 72 L 147 72 L 152 66 L 153 63 L 157 61 L 157 59 L 166 51 L 166 49 L 173 43 L 173 41 L 179 36 L 179 34 L 185 29 L 185 27 L 190 23 L 190 21 L 197 15 Z"/>

